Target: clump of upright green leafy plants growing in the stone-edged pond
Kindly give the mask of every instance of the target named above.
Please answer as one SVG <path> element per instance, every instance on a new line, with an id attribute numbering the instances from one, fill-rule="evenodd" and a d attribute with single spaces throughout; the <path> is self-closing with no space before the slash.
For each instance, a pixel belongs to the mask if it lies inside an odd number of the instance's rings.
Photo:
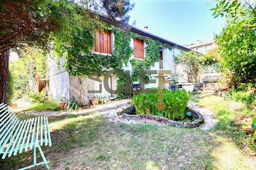
<path id="1" fill-rule="evenodd" d="M 134 95 L 131 101 L 136 109 L 136 114 L 153 114 L 173 120 L 182 120 L 185 118 L 190 99 L 190 95 L 187 94 L 185 89 L 176 91 L 163 89 L 163 102 L 165 103 L 165 109 L 163 111 L 157 109 L 158 98 L 158 92 Z"/>

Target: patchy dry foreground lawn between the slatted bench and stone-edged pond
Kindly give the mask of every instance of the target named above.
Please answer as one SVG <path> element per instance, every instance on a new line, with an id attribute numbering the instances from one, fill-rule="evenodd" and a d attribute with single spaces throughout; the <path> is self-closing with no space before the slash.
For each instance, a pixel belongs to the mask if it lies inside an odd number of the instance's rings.
<path id="1" fill-rule="evenodd" d="M 54 170 L 253 169 L 254 161 L 212 132 L 115 123 L 97 114 L 49 118 L 53 145 L 43 150 Z M 32 151 L 0 160 L 2 170 L 31 164 Z"/>

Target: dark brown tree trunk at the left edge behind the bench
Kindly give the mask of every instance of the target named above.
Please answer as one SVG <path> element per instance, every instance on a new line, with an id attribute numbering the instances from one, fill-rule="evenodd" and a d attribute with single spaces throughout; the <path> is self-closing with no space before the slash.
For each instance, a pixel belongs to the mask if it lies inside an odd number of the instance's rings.
<path id="1" fill-rule="evenodd" d="M 0 53 L 0 103 L 7 102 L 7 80 L 9 68 L 9 52 Z"/>

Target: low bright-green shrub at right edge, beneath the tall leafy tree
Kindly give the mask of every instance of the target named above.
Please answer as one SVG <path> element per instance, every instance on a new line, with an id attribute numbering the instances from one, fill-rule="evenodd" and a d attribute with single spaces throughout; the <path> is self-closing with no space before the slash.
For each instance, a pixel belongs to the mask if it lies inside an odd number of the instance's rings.
<path id="1" fill-rule="evenodd" d="M 227 99 L 240 101 L 245 104 L 256 104 L 256 94 L 251 91 L 230 90 Z"/>

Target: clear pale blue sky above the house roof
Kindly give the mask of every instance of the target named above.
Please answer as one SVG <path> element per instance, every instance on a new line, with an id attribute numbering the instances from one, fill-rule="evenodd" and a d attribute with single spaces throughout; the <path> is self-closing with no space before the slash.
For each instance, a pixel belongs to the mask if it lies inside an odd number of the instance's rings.
<path id="1" fill-rule="evenodd" d="M 214 18 L 213 0 L 131 0 L 135 3 L 130 23 L 135 27 L 184 45 L 209 41 L 224 27 L 224 18 Z"/>

